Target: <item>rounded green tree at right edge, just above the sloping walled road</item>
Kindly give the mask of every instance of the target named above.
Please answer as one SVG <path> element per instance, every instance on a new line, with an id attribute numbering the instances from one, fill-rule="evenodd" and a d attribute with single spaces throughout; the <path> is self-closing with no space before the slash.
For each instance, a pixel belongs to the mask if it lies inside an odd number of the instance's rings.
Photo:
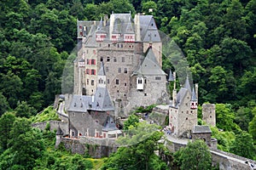
<path id="1" fill-rule="evenodd" d="M 236 139 L 231 144 L 230 152 L 238 155 L 253 159 L 255 155 L 255 146 L 253 145 L 253 137 L 251 134 L 242 131 L 236 134 Z"/>

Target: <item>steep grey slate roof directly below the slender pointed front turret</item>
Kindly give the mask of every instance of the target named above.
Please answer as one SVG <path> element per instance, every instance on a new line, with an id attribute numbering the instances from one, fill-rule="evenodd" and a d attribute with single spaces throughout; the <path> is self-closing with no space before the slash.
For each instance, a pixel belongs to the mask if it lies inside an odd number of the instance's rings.
<path id="1" fill-rule="evenodd" d="M 92 111 L 114 111 L 113 103 L 108 94 L 107 88 L 96 88 L 94 102 L 91 105 Z"/>

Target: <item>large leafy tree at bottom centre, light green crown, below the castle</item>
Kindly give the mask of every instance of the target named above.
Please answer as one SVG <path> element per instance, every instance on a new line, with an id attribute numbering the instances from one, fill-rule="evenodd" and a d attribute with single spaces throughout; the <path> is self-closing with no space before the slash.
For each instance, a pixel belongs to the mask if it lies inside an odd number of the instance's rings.
<path id="1" fill-rule="evenodd" d="M 154 154 L 154 150 L 163 148 L 159 142 L 163 133 L 158 129 L 154 124 L 137 123 L 137 127 L 131 128 L 130 133 L 119 139 L 119 144 L 129 146 L 120 147 L 102 169 L 166 169 L 166 164 Z"/>

